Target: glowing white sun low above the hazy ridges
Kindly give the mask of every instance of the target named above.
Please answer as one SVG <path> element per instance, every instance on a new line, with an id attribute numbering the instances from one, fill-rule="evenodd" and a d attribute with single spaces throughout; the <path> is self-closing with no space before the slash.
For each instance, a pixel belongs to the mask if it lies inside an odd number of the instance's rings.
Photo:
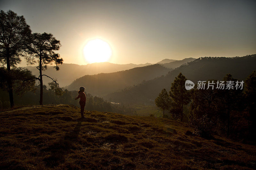
<path id="1" fill-rule="evenodd" d="M 88 63 L 100 63 L 109 60 L 112 50 L 106 41 L 97 38 L 86 43 L 83 53 Z"/>

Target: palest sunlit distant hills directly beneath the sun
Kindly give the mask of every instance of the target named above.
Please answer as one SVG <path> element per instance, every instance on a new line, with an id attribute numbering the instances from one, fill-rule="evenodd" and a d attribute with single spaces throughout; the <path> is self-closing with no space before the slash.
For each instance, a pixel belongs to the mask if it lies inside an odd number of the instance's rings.
<path id="1" fill-rule="evenodd" d="M 146 64 L 114 64 L 114 63 L 92 63 L 87 65 L 77 65 L 77 64 L 67 64 L 63 63 L 60 65 L 60 70 L 56 71 L 53 66 L 48 66 L 48 69 L 43 71 L 43 74 L 46 74 L 52 78 L 57 78 L 61 87 L 70 85 L 72 81 L 76 78 L 80 78 L 84 75 L 94 75 L 99 73 L 111 73 L 116 71 L 128 70 L 135 67 L 143 67 L 151 65 L 150 63 Z M 39 71 L 36 69 L 36 66 L 26 67 L 28 70 L 36 76 L 39 76 Z M 51 82 L 51 79 L 44 78 L 44 84 Z"/>

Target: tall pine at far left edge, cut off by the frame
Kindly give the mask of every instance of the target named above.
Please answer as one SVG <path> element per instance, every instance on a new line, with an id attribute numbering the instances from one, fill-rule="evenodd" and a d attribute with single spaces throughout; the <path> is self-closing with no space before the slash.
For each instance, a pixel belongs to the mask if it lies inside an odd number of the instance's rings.
<path id="1" fill-rule="evenodd" d="M 7 71 L 20 63 L 20 55 L 26 49 L 31 35 L 30 26 L 23 16 L 18 16 L 9 10 L 0 12 L 0 63 L 6 64 Z M 7 77 L 8 92 L 11 107 L 14 107 L 12 77 Z"/>

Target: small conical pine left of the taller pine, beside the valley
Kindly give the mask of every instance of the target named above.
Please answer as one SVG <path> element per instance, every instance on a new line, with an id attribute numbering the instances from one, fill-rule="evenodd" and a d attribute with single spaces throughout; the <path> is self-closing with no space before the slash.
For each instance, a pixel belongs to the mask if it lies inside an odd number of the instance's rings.
<path id="1" fill-rule="evenodd" d="M 156 103 L 156 106 L 163 109 L 163 111 L 165 109 L 170 108 L 171 99 L 170 99 L 170 96 L 168 95 L 166 89 L 163 89 L 161 91 L 161 93 L 159 93 L 159 96 L 155 99 L 155 103 Z"/>

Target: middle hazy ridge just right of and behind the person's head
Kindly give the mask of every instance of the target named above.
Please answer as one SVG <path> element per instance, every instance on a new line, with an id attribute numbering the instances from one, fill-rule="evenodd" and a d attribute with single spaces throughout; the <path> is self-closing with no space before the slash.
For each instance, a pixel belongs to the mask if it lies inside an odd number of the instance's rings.
<path id="1" fill-rule="evenodd" d="M 97 75 L 85 75 L 76 79 L 68 90 L 78 90 L 80 86 L 86 87 L 86 92 L 93 95 L 103 95 L 115 92 L 118 89 L 137 85 L 143 80 L 150 80 L 162 76 L 172 69 L 165 68 L 160 64 L 136 67 L 130 70 L 115 73 L 100 73 Z"/>

